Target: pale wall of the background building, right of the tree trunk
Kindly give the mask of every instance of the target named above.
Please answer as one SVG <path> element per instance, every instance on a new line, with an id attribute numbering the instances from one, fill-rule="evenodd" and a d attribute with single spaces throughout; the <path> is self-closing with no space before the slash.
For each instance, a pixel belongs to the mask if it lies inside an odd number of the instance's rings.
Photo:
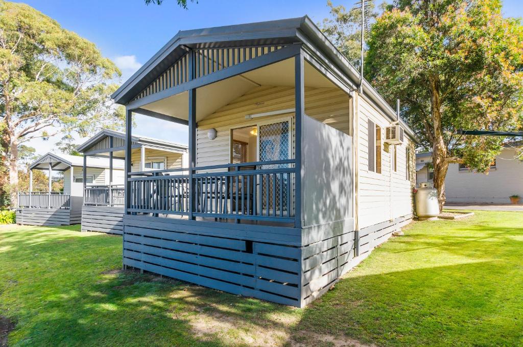
<path id="1" fill-rule="evenodd" d="M 523 197 L 523 163 L 514 156 L 513 149 L 505 148 L 488 175 L 450 164 L 445 178 L 447 202 L 499 204 L 510 203 L 510 195 Z"/>

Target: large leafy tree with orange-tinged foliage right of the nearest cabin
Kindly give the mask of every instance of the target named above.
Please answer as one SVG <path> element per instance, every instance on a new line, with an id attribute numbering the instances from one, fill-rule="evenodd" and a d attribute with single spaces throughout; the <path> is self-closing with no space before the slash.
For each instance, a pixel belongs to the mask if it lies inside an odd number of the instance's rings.
<path id="1" fill-rule="evenodd" d="M 440 209 L 450 163 L 485 172 L 504 138 L 457 129 L 520 127 L 523 28 L 498 0 L 395 0 L 372 26 L 366 76 L 433 151 Z"/>

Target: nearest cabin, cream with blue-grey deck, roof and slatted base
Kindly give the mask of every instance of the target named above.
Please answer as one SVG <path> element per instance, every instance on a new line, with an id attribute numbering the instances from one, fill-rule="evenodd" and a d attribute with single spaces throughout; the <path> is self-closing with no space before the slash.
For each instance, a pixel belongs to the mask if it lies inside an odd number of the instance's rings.
<path id="1" fill-rule="evenodd" d="M 412 220 L 412 130 L 307 16 L 179 31 L 112 97 L 124 267 L 303 307 Z M 133 113 L 188 166 L 133 171 Z"/>

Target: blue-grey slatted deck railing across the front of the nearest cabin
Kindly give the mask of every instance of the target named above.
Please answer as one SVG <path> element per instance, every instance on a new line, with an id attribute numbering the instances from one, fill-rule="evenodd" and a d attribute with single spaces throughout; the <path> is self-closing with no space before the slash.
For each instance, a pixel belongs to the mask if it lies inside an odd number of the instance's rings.
<path id="1" fill-rule="evenodd" d="M 195 167 L 129 174 L 128 212 L 294 221 L 294 160 Z"/>

